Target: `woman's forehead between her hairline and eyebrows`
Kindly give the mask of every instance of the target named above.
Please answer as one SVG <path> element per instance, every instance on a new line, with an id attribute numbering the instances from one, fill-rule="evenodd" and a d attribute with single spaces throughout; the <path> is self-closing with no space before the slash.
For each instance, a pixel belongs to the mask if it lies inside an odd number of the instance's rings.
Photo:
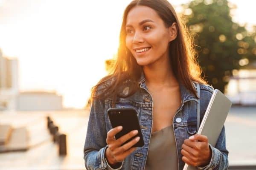
<path id="1" fill-rule="evenodd" d="M 135 6 L 127 14 L 126 24 L 135 25 L 143 20 L 152 20 L 154 22 L 159 22 L 161 18 L 157 12 L 147 6 Z"/>

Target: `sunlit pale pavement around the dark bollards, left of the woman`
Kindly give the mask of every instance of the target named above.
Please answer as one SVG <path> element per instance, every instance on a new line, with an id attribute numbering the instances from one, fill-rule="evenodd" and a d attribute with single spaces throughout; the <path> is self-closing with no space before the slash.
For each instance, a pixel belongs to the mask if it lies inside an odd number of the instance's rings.
<path id="1" fill-rule="evenodd" d="M 84 170 L 87 114 L 88 111 L 0 112 L 0 123 L 11 123 L 15 128 L 26 126 L 32 138 L 26 152 L 0 153 L 0 170 Z M 58 144 L 52 142 L 47 131 L 46 116 L 53 119 L 59 132 L 67 134 L 66 156 L 58 155 Z"/>

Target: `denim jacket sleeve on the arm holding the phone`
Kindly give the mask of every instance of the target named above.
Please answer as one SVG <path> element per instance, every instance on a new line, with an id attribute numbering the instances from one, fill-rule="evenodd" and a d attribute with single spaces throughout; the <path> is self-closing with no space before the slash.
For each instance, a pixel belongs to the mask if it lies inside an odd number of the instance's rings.
<path id="1" fill-rule="evenodd" d="M 87 125 L 84 143 L 84 164 L 87 170 L 119 170 L 113 169 L 105 158 L 107 131 L 105 124 L 105 107 L 103 100 L 93 100 Z"/>

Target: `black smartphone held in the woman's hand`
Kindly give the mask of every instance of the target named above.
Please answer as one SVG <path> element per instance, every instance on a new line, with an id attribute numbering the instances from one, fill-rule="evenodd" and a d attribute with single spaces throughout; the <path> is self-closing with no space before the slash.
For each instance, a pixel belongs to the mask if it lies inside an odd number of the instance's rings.
<path id="1" fill-rule="evenodd" d="M 132 130 L 138 130 L 136 136 L 128 139 L 122 145 L 130 142 L 137 136 L 140 136 L 139 142 L 134 144 L 132 147 L 143 147 L 144 140 L 140 129 L 140 123 L 138 120 L 137 112 L 134 108 L 110 108 L 108 109 L 108 117 L 110 119 L 112 127 L 122 126 L 122 130 L 115 135 L 116 139 L 124 136 L 125 134 L 131 132 Z"/>

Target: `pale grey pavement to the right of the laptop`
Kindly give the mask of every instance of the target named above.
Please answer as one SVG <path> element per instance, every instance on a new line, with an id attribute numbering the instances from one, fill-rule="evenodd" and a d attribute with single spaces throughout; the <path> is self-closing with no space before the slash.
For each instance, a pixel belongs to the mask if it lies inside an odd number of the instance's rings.
<path id="1" fill-rule="evenodd" d="M 233 107 L 225 122 L 229 164 L 256 165 L 256 107 Z"/>

